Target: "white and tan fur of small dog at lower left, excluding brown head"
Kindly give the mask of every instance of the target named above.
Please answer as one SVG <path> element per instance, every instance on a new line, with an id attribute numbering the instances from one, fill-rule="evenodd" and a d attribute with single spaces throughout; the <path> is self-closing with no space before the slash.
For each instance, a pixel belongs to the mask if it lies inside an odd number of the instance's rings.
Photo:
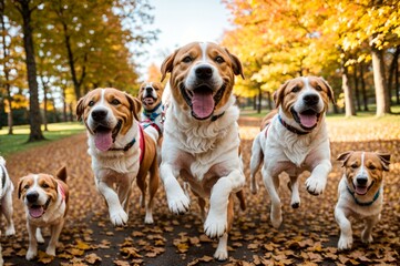
<path id="1" fill-rule="evenodd" d="M 29 192 L 35 191 L 39 193 L 38 204 L 44 205 L 48 201 L 49 196 L 43 191 L 43 188 L 39 185 L 39 175 L 32 176 L 34 183 L 33 186 L 29 187 L 27 194 Z M 66 204 L 62 197 L 62 193 L 60 187 L 58 186 L 58 197 L 55 202 L 51 202 L 45 213 L 39 218 L 32 218 L 29 215 L 28 201 L 23 198 L 25 214 L 27 214 L 27 228 L 29 233 L 29 247 L 27 252 L 27 259 L 31 260 L 38 255 L 38 242 L 44 243 L 43 236 L 41 234 L 42 227 L 50 227 L 51 229 L 51 238 L 49 241 L 48 248 L 45 253 L 55 256 L 55 248 L 59 242 L 59 236 L 64 226 L 64 214 Z"/>

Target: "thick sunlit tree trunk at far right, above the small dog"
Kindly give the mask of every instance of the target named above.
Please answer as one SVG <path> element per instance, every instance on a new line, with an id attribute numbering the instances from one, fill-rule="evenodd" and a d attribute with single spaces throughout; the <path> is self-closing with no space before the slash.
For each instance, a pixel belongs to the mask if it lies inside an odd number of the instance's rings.
<path id="1" fill-rule="evenodd" d="M 390 113 L 390 99 L 386 90 L 383 51 L 371 47 L 373 84 L 377 99 L 377 116 Z"/>

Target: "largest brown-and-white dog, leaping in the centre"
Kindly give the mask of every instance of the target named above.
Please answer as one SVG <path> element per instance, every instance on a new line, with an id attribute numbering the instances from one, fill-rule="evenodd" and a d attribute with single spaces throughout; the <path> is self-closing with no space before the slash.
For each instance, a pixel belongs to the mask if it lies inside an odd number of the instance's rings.
<path id="1" fill-rule="evenodd" d="M 181 176 L 198 197 L 205 234 L 219 237 L 214 257 L 226 259 L 233 195 L 244 200 L 239 110 L 233 95 L 235 75 L 243 76 L 242 64 L 215 43 L 193 42 L 167 57 L 161 71 L 162 80 L 171 72 L 160 167 L 170 209 L 180 214 L 189 208 L 188 195 L 177 181 Z"/>

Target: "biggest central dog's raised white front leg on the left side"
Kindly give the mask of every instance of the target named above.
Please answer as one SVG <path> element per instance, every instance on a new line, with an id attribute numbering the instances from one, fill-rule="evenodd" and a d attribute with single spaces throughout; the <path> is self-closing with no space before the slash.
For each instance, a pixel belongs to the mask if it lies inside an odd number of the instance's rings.
<path id="1" fill-rule="evenodd" d="M 175 214 L 187 212 L 189 208 L 189 200 L 177 182 L 174 175 L 173 166 L 167 163 L 162 163 L 160 166 L 160 176 L 164 183 L 165 194 L 171 212 Z"/>

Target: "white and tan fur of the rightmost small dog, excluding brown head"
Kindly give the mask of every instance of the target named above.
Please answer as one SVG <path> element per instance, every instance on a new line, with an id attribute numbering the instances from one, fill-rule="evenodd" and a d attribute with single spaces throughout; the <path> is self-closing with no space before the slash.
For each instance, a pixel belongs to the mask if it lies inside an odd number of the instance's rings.
<path id="1" fill-rule="evenodd" d="M 363 154 L 361 160 L 361 172 L 363 171 Z M 368 175 L 368 171 L 363 171 Z M 368 178 L 369 181 L 371 178 Z M 370 184 L 370 182 L 369 182 Z M 379 197 L 369 206 L 360 206 L 356 203 L 353 196 L 349 193 L 346 174 L 343 174 L 338 186 L 338 203 L 335 207 L 335 218 L 340 227 L 340 238 L 338 242 L 338 249 L 349 249 L 352 246 L 352 229 L 350 216 L 365 221 L 365 228 L 361 233 L 361 241 L 363 243 L 371 243 L 373 241 L 371 232 L 373 226 L 380 219 L 380 213 L 383 206 L 383 183 L 379 188 Z M 371 202 L 372 198 L 365 198 L 362 202 Z"/>

